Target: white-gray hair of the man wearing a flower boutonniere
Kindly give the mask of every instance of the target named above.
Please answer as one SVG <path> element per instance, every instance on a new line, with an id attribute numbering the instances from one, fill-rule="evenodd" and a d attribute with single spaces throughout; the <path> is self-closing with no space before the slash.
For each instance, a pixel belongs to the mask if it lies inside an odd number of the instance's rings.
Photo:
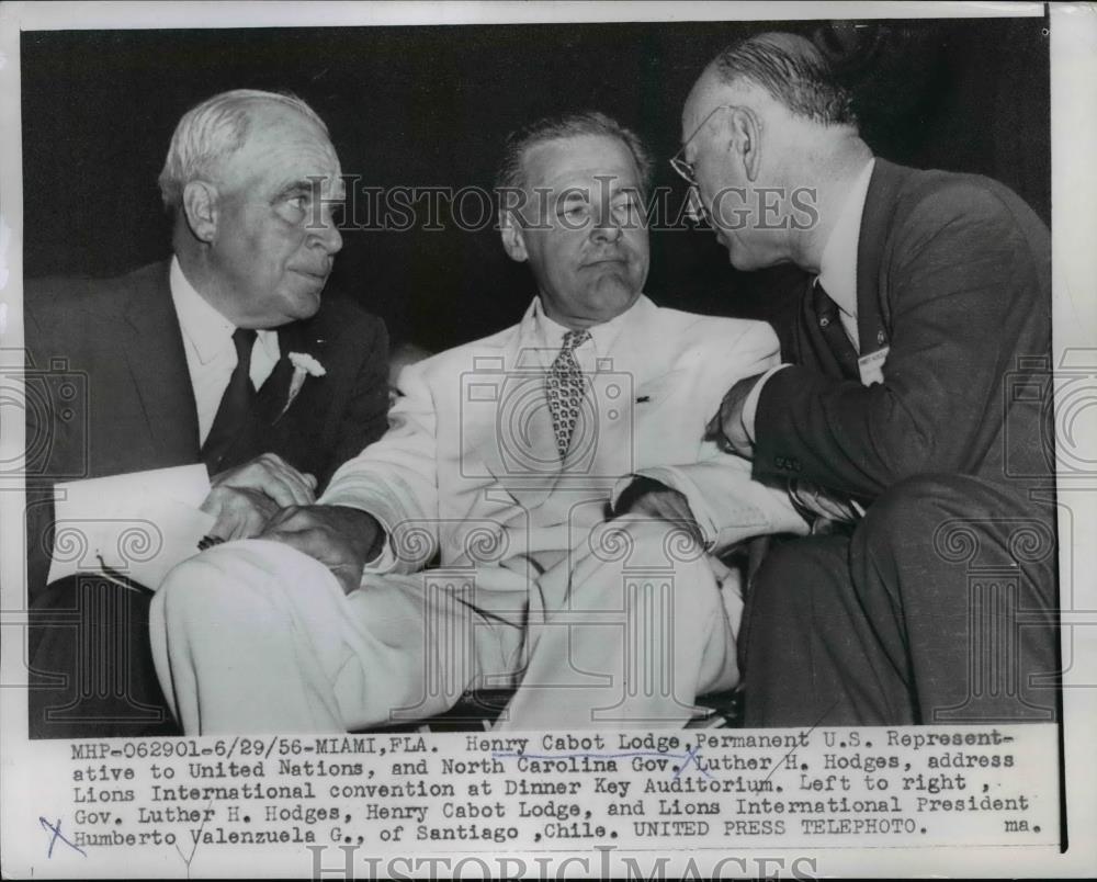
<path id="1" fill-rule="evenodd" d="M 208 178 L 218 163 L 244 146 L 251 113 L 260 104 L 281 104 L 295 110 L 328 134 L 327 125 L 316 111 L 296 95 L 234 89 L 207 98 L 183 114 L 171 136 L 168 158 L 160 172 L 160 195 L 167 207 L 178 208 L 188 183 Z"/>

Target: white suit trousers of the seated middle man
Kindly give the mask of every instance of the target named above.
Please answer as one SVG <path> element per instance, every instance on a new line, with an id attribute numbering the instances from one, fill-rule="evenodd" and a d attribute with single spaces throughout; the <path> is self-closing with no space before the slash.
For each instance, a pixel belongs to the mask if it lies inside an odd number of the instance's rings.
<path id="1" fill-rule="evenodd" d="M 188 734 L 406 723 L 514 685 L 499 728 L 679 727 L 697 694 L 738 681 L 742 600 L 717 573 L 682 531 L 623 519 L 529 589 L 454 568 L 366 574 L 344 595 L 317 561 L 247 540 L 176 567 L 149 627 Z"/>

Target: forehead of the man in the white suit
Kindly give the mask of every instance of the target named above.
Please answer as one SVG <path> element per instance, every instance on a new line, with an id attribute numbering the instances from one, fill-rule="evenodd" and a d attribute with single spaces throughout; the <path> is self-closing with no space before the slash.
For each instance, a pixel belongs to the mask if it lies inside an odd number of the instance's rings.
<path id="1" fill-rule="evenodd" d="M 609 135 L 579 135 L 534 145 L 523 165 L 527 186 L 534 194 L 558 195 L 574 190 L 595 199 L 641 186 L 632 150 Z"/>

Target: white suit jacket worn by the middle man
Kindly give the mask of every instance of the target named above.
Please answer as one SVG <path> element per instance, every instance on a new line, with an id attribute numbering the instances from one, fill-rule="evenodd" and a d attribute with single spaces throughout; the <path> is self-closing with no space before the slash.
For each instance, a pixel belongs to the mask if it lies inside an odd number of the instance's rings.
<path id="1" fill-rule="evenodd" d="M 587 375 L 562 463 L 544 393 L 555 353 L 538 351 L 534 305 L 513 327 L 406 368 L 388 432 L 332 477 L 320 502 L 365 510 L 388 532 L 367 576 L 436 561 L 476 567 L 482 587 L 525 588 L 588 541 L 641 474 L 687 495 L 711 549 L 806 531 L 783 491 L 702 440 L 724 393 L 778 363 L 768 325 L 641 296 Z"/>

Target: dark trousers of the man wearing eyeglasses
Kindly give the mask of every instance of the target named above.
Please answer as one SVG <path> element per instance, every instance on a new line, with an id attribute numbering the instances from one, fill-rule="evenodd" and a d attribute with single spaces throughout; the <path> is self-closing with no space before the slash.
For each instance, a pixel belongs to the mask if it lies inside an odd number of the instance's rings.
<path id="1" fill-rule="evenodd" d="M 745 725 L 1056 720 L 1056 547 L 1049 502 L 955 475 L 776 544 L 744 614 Z"/>

